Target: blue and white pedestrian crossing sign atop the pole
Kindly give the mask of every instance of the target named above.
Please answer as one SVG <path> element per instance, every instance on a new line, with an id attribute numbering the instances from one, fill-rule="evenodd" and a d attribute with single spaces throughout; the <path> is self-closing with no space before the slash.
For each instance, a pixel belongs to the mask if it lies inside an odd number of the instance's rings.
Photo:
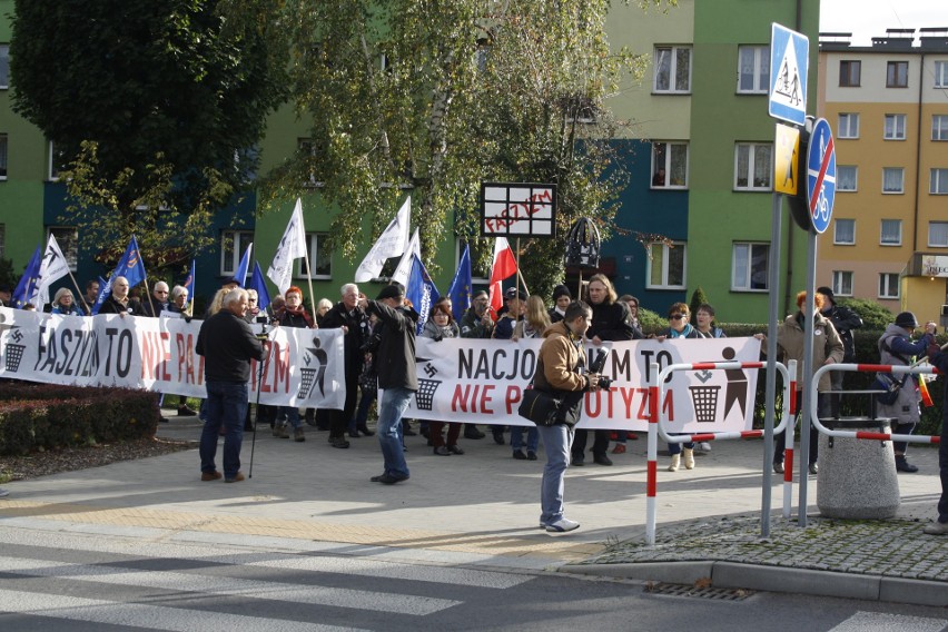
<path id="1" fill-rule="evenodd" d="M 777 22 L 770 29 L 770 116 L 803 125 L 810 40 Z"/>

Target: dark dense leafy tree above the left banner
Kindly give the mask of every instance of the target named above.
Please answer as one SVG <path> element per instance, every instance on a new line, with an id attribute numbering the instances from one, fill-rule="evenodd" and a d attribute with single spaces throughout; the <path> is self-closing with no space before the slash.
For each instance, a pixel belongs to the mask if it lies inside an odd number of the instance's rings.
<path id="1" fill-rule="evenodd" d="M 107 251 L 132 231 L 152 253 L 206 246 L 211 213 L 251 181 L 266 116 L 286 95 L 282 2 L 14 7 L 13 109 L 55 142 L 65 221 Z"/>

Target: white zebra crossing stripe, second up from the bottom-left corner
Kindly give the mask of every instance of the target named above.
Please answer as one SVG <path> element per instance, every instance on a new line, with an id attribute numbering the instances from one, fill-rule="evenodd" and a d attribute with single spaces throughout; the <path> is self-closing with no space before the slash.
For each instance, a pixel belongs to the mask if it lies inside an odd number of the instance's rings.
<path id="1" fill-rule="evenodd" d="M 241 580 L 176 571 L 135 571 L 127 566 L 70 564 L 22 557 L 0 559 L 0 572 L 355 610 L 365 610 L 371 604 L 374 611 L 415 616 L 433 614 L 462 603 L 446 599 L 367 590 Z M 0 610 L 7 609 L 7 605 L 0 600 Z"/>

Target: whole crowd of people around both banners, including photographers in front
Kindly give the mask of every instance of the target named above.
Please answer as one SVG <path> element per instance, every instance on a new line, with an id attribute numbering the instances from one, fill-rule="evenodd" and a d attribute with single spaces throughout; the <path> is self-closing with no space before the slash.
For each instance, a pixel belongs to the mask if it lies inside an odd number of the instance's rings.
<path id="1" fill-rule="evenodd" d="M 57 315 L 85 316 L 89 305 L 97 298 L 98 285 L 98 282 L 89 282 L 86 294 L 80 296 L 79 300 L 70 289 L 61 288 L 48 308 Z M 411 429 L 411 422 L 404 419 L 403 415 L 418 388 L 414 356 L 415 329 L 419 315 L 405 299 L 404 288 L 395 283 L 384 286 L 376 299 L 372 300 L 359 292 L 357 285 L 345 284 L 340 288 L 340 299 L 337 303 L 322 298 L 310 314 L 304 307 L 304 293 L 298 287 L 289 287 L 283 295 L 275 297 L 266 310 L 261 310 L 256 292 L 239 286 L 235 278 L 225 282 L 208 305 L 198 338 L 198 353 L 207 358 L 205 369 L 208 385 L 207 404 L 201 406 L 201 418 L 205 422 L 200 450 L 201 480 L 243 480 L 239 471 L 241 435 L 243 431 L 255 429 L 250 423 L 249 406 L 246 405 L 246 382 L 249 377 L 247 372 L 249 361 L 260 359 L 265 353 L 265 345 L 255 337 L 249 326 L 255 322 L 267 322 L 280 327 L 342 329 L 345 403 L 339 411 L 307 409 L 305 419 L 312 426 L 328 431 L 328 443 L 336 448 L 349 447 L 348 438 L 377 434 L 384 471 L 381 475 L 373 476 L 372 481 L 392 485 L 408 480 L 404 437 L 414 435 L 415 432 Z M 187 307 L 188 290 L 182 286 L 169 288 L 166 283 L 158 282 L 145 299 L 136 298 L 131 290 L 126 278 L 119 276 L 112 279 L 111 292 L 102 302 L 99 313 L 118 314 L 121 317 L 178 314 L 190 318 Z M 0 288 L 0 305 L 9 305 L 9 288 Z M 814 320 L 812 325 L 808 325 L 804 323 L 806 302 L 807 294 L 801 292 L 797 297 L 798 312 L 788 316 L 778 327 L 780 359 L 797 359 L 802 363 L 803 339 L 812 327 L 821 342 L 814 346 L 814 369 L 826 364 L 855 362 L 852 330 L 862 326 L 861 318 L 851 309 L 836 305 L 836 297 L 829 287 L 820 287 L 813 297 Z M 557 364 L 555 369 L 546 366 L 544 376 L 541 363 L 534 379 L 582 393 L 594 389 L 595 384 L 591 382 L 589 374 L 584 378 L 571 377 L 573 372 L 582 375 L 583 363 L 576 364 L 576 358 L 570 355 L 572 352 L 563 349 L 573 348 L 584 358 L 583 349 L 594 354 L 605 342 L 644 338 L 645 334 L 639 320 L 639 307 L 638 298 L 630 295 L 618 296 L 611 280 L 605 275 L 598 274 L 585 285 L 582 300 L 574 299 L 570 289 L 560 285 L 553 290 L 549 306 L 542 296 L 527 295 L 514 287 L 505 292 L 504 306 L 494 314 L 490 309 L 487 293 L 480 292 L 473 296 L 471 307 L 457 322 L 454 319 L 451 299 L 441 298 L 431 307 L 419 335 L 435 343 L 458 337 L 543 339 L 540 356 L 547 359 L 546 364 Z M 709 304 L 700 305 L 692 318 L 688 305 L 674 303 L 668 309 L 668 328 L 651 333 L 649 337 L 660 343 L 673 338 L 725 337 L 714 319 L 715 310 Z M 927 323 L 918 337 L 914 336 L 917 328 L 919 325 L 914 314 L 899 314 L 878 342 L 881 364 L 911 365 L 915 358 L 928 355 L 945 371 L 944 365 L 948 363 L 945 358 L 948 356 L 935 344 L 935 324 Z M 766 342 L 762 334 L 757 337 Z M 563 346 L 563 340 L 569 344 Z M 553 352 L 554 347 L 559 350 Z M 576 366 L 573 366 L 574 364 Z M 841 372 L 831 372 L 820 382 L 818 411 L 821 416 L 839 415 L 839 394 L 843 391 L 843 375 Z M 598 375 L 592 376 L 593 382 L 598 379 Z M 898 434 L 910 434 L 919 421 L 918 376 L 909 376 L 907 383 L 909 387 L 902 388 L 899 399 L 889 405 L 890 409 L 885 406 L 882 409 L 882 416 L 895 419 L 892 432 Z M 239 384 L 244 384 L 243 391 Z M 809 379 L 797 381 L 798 409 L 801 389 L 807 384 Z M 383 397 L 376 402 L 379 388 Z M 375 431 L 368 426 L 373 404 L 377 404 Z M 185 397 L 180 398 L 178 414 L 196 414 Z M 574 429 L 579 414 L 577 411 L 571 423 L 560 426 L 562 432 L 542 426 L 507 428 L 503 425 L 491 425 L 494 442 L 498 445 L 510 445 L 515 460 L 536 461 L 540 440 L 544 440 L 547 463 L 543 475 L 540 524 L 547 531 L 571 531 L 579 526 L 563 516 L 563 473 L 569 465 L 585 464 L 589 434 L 593 434 L 590 450 L 592 461 L 602 466 L 612 465 L 608 455 L 610 441 L 615 442 L 612 453 L 622 454 L 626 450 L 626 441 L 638 438 L 633 432 Z M 258 406 L 256 419 L 258 424 L 269 423 L 276 437 L 292 436 L 297 442 L 305 441 L 300 412 L 294 406 Z M 433 454 L 437 456 L 463 455 L 461 438 L 477 441 L 485 437 L 475 425 L 466 424 L 462 428 L 462 424 L 452 419 L 423 422 L 419 429 Z M 510 440 L 505 436 L 507 432 Z M 223 474 L 214 464 L 216 444 L 220 435 L 225 437 Z M 778 473 L 783 471 L 783 444 L 782 435 L 776 437 L 773 470 Z M 811 436 L 808 455 L 811 474 L 818 472 L 817 445 L 817 437 Z M 939 504 L 938 522 L 926 529 L 927 533 L 932 534 L 948 534 L 948 505 L 945 501 L 948 497 L 948 452 L 945 445 L 942 437 L 940 473 L 946 495 Z M 668 470 L 675 472 L 682 464 L 687 470 L 692 470 L 695 466 L 694 453 L 702 452 L 702 448 L 704 452 L 710 451 L 707 444 L 669 443 L 671 461 Z M 918 467 L 908 462 L 906 450 L 905 442 L 895 444 L 896 468 L 906 473 L 917 472 Z M 0 488 L 0 497 L 7 493 Z"/>

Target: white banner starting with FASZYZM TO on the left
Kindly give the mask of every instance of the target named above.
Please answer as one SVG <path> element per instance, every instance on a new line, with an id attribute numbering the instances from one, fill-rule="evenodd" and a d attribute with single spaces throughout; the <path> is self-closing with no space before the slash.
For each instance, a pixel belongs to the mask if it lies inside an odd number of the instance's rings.
<path id="1" fill-rule="evenodd" d="M 204 358 L 195 350 L 200 325 L 184 318 L 59 316 L 0 307 L 0 377 L 205 397 Z M 251 362 L 251 401 L 259 379 L 261 404 L 343 407 L 340 329 L 275 327 L 269 339 L 263 374 Z"/>

